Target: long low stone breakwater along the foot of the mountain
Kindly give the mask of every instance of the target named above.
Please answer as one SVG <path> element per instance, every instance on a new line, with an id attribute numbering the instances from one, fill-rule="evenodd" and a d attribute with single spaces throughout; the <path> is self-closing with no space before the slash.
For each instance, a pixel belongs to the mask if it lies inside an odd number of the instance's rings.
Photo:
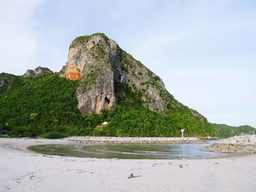
<path id="1" fill-rule="evenodd" d="M 197 137 L 67 137 L 72 142 L 102 144 L 169 144 L 169 143 L 201 143 Z"/>

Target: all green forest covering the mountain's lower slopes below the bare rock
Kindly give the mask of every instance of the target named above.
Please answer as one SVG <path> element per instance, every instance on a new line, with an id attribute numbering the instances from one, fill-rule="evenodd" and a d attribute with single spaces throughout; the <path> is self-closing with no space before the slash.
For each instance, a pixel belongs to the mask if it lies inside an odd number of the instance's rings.
<path id="1" fill-rule="evenodd" d="M 195 117 L 188 107 L 170 106 L 169 115 L 160 115 L 143 107 L 140 91 L 119 82 L 116 109 L 85 116 L 78 110 L 75 96 L 80 81 L 58 74 L 11 78 L 8 88 L 0 93 L 0 132 L 12 136 L 179 137 L 181 128 L 185 128 L 186 137 L 216 135 L 211 124 Z M 103 126 L 105 121 L 108 124 Z"/>

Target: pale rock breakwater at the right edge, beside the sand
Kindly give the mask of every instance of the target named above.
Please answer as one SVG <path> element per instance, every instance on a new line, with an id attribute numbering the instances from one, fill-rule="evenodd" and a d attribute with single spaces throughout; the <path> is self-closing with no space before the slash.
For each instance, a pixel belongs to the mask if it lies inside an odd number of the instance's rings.
<path id="1" fill-rule="evenodd" d="M 222 153 L 256 153 L 256 135 L 230 137 L 206 146 L 203 150 Z"/>

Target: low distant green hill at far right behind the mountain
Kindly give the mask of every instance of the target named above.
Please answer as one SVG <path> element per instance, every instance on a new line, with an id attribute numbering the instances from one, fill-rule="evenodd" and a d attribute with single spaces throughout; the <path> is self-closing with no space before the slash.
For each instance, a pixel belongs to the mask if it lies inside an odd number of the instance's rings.
<path id="1" fill-rule="evenodd" d="M 256 134 L 256 129 L 252 126 L 227 126 L 225 124 L 211 124 L 217 129 L 217 137 L 227 138 L 238 135 Z"/>

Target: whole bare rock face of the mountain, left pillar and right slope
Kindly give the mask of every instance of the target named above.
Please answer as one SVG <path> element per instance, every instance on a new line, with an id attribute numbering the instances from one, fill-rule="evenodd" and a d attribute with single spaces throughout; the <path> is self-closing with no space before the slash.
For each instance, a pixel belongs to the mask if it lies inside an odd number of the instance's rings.
<path id="1" fill-rule="evenodd" d="M 162 115 L 167 115 L 170 107 L 181 105 L 166 91 L 156 74 L 105 34 L 76 38 L 69 47 L 67 66 L 60 76 L 81 80 L 77 91 L 78 108 L 86 115 L 116 106 L 116 83 L 139 92 L 143 106 Z M 192 115 L 199 114 L 192 111 Z"/>

